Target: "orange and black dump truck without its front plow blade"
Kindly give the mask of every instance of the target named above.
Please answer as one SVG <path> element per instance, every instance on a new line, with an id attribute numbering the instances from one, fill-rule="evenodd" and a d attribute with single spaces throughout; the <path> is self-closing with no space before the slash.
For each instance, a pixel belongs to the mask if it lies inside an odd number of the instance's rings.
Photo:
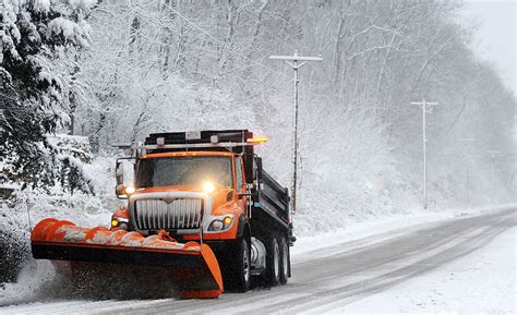
<path id="1" fill-rule="evenodd" d="M 251 276 L 286 283 L 294 241 L 289 196 L 262 169 L 254 146 L 263 142 L 247 130 L 151 134 L 130 147 L 133 183 L 123 184 L 117 162 L 116 193 L 127 206 L 111 229 L 208 244 L 230 290 L 247 291 Z"/>

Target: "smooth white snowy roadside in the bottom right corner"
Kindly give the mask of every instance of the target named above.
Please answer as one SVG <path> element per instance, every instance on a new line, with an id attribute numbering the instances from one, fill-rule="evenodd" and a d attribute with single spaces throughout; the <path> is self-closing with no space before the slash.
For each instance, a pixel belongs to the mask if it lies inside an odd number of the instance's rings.
<path id="1" fill-rule="evenodd" d="M 337 307 L 336 313 L 516 314 L 513 228 L 488 246 L 390 290 Z"/>

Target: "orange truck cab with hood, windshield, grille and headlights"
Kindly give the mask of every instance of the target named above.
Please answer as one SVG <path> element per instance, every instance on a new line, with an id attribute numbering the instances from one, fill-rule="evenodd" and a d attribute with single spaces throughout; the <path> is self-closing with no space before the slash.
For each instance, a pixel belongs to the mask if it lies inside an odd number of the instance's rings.
<path id="1" fill-rule="evenodd" d="M 134 187 L 129 190 L 128 208 L 113 216 L 112 228 L 121 226 L 143 234 L 166 230 L 182 240 L 200 240 L 201 232 L 204 241 L 235 240 L 235 222 L 248 218 L 242 157 L 231 153 L 142 156 Z"/>

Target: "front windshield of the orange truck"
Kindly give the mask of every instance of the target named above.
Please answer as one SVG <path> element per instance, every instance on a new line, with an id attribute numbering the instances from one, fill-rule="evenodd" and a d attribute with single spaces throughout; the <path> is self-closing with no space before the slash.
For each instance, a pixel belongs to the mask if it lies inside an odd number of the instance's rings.
<path id="1" fill-rule="evenodd" d="M 137 187 L 202 185 L 231 186 L 229 157 L 196 156 L 149 158 L 140 161 Z"/>

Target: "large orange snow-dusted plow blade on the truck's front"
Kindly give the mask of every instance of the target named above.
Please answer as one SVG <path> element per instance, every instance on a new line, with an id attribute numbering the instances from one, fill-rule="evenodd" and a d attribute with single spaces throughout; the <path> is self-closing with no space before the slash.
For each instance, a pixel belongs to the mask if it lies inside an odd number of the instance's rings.
<path id="1" fill-rule="evenodd" d="M 44 219 L 31 233 L 31 247 L 35 259 L 163 267 L 168 271 L 164 278 L 182 298 L 213 299 L 224 291 L 219 265 L 206 244 Z"/>

